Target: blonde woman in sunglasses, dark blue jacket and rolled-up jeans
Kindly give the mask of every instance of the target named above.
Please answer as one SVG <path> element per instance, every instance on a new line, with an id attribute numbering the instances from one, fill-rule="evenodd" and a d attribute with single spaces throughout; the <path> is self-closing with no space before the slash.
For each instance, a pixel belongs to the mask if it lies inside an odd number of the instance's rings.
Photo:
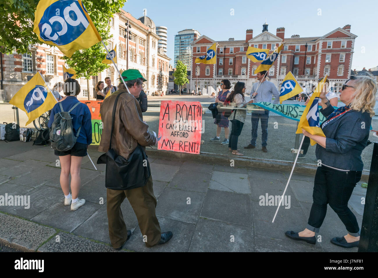
<path id="1" fill-rule="evenodd" d="M 340 100 L 345 106 L 335 110 L 320 94 L 322 109 L 326 117 L 321 128 L 325 137 L 312 135 L 303 130 L 305 136 L 316 143 L 318 167 L 314 180 L 313 204 L 306 229 L 285 235 L 294 240 L 315 244 L 315 233 L 319 232 L 327 204 L 344 223 L 347 235 L 332 238 L 331 242 L 344 248 L 358 247 L 360 229 L 355 215 L 348 207 L 356 183 L 361 179 L 363 162 L 361 153 L 367 145 L 372 117 L 375 115 L 376 84 L 369 76 L 351 76 L 340 90 Z"/>

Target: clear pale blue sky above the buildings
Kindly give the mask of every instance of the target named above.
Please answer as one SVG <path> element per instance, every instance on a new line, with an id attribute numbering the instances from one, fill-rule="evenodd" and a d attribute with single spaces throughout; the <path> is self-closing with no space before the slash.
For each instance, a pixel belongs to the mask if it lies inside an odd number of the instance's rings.
<path id="1" fill-rule="evenodd" d="M 246 0 L 128 0 L 124 10 L 133 17 L 143 16 L 147 9 L 156 26 L 168 28 L 167 55 L 174 60 L 174 36 L 186 28 L 198 30 L 214 40 L 245 39 L 246 29 L 254 36 L 262 31 L 265 18 L 268 31 L 285 27 L 285 38 L 298 34 L 301 37 L 320 37 L 350 24 L 355 40 L 352 69 L 362 70 L 378 66 L 378 23 L 376 0 L 342 1 L 246 1 Z M 234 9 L 234 15 L 231 15 Z M 321 9 L 321 15 L 318 15 Z M 364 50 L 364 51 L 363 51 Z M 363 53 L 364 52 L 364 53 Z"/>

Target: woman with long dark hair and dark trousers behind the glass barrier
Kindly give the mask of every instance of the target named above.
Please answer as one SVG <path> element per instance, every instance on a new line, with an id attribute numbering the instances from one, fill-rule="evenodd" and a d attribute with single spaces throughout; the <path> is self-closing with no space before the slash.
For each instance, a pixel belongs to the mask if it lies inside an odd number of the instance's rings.
<path id="1" fill-rule="evenodd" d="M 244 100 L 245 93 L 245 83 L 236 82 L 234 90 L 226 98 L 225 102 L 232 102 L 234 107 L 246 107 L 247 102 Z M 239 153 L 237 148 L 237 141 L 239 139 L 240 133 L 242 133 L 243 125 L 245 122 L 245 117 L 247 111 L 244 109 L 234 109 L 228 119 L 231 121 L 231 133 L 229 137 L 228 147 L 232 151 L 232 154 L 243 156 L 244 154 Z"/>

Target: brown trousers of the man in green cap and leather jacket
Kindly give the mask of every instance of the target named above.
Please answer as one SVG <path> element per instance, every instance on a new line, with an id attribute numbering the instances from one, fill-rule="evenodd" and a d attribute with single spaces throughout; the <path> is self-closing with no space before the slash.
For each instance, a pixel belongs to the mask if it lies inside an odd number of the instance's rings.
<path id="1" fill-rule="evenodd" d="M 107 188 L 106 194 L 109 237 L 114 248 L 121 247 L 127 239 L 127 228 L 121 212 L 125 197 L 133 207 L 142 235 L 147 236 L 146 246 L 151 247 L 160 242 L 161 230 L 155 214 L 156 198 L 153 194 L 152 175 L 143 187 L 130 190 Z"/>

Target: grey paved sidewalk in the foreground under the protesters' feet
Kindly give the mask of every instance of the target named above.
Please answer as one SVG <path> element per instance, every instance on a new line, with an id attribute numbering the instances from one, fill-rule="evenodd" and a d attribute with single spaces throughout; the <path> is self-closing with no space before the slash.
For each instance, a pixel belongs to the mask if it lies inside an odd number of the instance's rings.
<path id="1" fill-rule="evenodd" d="M 0 206 L 0 241 L 40 252 L 115 251 L 108 236 L 105 165 L 96 165 L 96 171 L 88 157 L 83 159 L 79 198 L 86 203 L 71 212 L 63 204 L 58 157 L 50 147 L 32 144 L 0 141 L 0 195 L 30 196 L 28 209 Z M 101 155 L 97 151 L 89 154 L 94 162 Z M 235 167 L 164 160 L 151 155 L 149 160 L 158 199 L 156 215 L 161 230 L 171 230 L 174 236 L 162 246 L 145 247 L 135 214 L 125 199 L 122 213 L 132 236 L 122 251 L 357 252 L 357 248 L 343 249 L 330 243 L 331 238 L 346 234 L 330 207 L 317 234 L 321 242 L 311 245 L 284 235 L 287 230 L 299 231 L 307 224 L 313 176 L 293 175 L 285 194 L 290 196 L 290 202 L 285 202 L 272 223 L 277 207 L 265 205 L 269 202 L 263 202 L 261 196 L 282 195 L 290 173 L 273 168 L 238 168 L 237 160 Z M 350 207 L 360 226 L 361 198 L 365 195 L 366 189 L 359 182 Z"/>

